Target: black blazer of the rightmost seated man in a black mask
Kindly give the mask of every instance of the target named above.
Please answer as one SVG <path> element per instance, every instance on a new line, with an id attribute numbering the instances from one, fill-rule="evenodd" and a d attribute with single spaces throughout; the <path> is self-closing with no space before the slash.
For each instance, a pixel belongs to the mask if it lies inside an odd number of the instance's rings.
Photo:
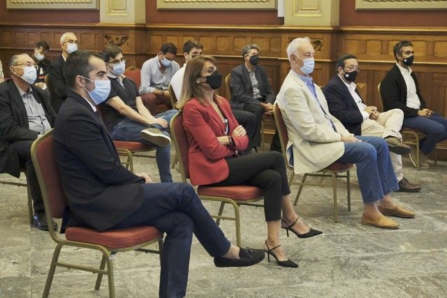
<path id="1" fill-rule="evenodd" d="M 413 77 L 414 84 L 416 84 L 416 94 L 420 100 L 420 110 L 422 110 L 427 105 L 425 105 L 425 101 L 422 95 L 420 95 L 418 79 L 416 79 L 416 75 L 413 72 L 411 72 L 411 77 Z M 400 109 L 404 112 L 404 117 L 418 116 L 418 109 L 406 106 L 406 84 L 404 76 L 396 64 L 388 70 L 388 73 L 383 78 L 380 84 L 380 95 L 383 101 L 383 110 Z"/>

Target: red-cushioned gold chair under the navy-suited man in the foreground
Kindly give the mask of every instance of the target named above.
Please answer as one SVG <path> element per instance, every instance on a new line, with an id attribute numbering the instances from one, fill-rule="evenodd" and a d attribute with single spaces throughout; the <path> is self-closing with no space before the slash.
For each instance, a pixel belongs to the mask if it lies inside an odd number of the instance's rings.
<path id="1" fill-rule="evenodd" d="M 31 146 L 31 158 L 39 185 L 41 186 L 43 204 L 45 205 L 45 213 L 48 223 L 52 222 L 52 218 L 62 218 L 66 207 L 66 198 L 62 190 L 59 174 L 57 172 L 56 161 L 53 157 L 53 137 L 52 131 L 45 133 L 38 140 L 34 141 Z M 95 289 L 101 286 L 103 275 L 108 276 L 109 297 L 115 297 L 115 284 L 113 278 L 113 262 L 112 255 L 122 251 L 143 251 L 145 253 L 160 254 L 163 249 L 163 233 L 154 227 L 138 226 L 121 230 L 108 230 L 98 232 L 91 228 L 70 227 L 66 229 L 65 239 L 57 234 L 53 225 L 48 226 L 52 239 L 57 246 L 54 248 L 53 258 L 48 272 L 47 282 L 43 297 L 47 297 L 50 293 L 50 287 L 56 267 L 65 267 L 89 271 L 98 274 L 96 278 Z M 159 249 L 147 249 L 145 246 L 158 242 Z M 77 248 L 89 248 L 100 251 L 102 254 L 101 265 L 98 267 L 88 267 L 68 262 L 59 262 L 59 253 L 64 246 L 75 246 Z M 73 251 L 71 252 L 73 253 Z M 76 251 L 78 253 L 78 251 Z M 91 264 L 95 261 L 91 260 Z M 107 269 L 105 269 L 107 265 Z"/>

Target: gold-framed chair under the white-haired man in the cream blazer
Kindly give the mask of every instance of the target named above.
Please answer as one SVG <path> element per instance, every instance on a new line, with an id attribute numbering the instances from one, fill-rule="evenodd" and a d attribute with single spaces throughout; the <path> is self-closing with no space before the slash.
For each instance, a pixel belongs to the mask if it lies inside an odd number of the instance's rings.
<path id="1" fill-rule="evenodd" d="M 284 161 L 286 162 L 286 167 L 288 167 L 288 169 L 292 170 L 291 177 L 290 177 L 290 179 L 288 179 L 288 184 L 292 185 L 293 178 L 295 177 L 295 172 L 293 172 L 293 167 L 288 165 L 287 155 L 286 155 L 287 142 L 286 142 L 286 140 L 284 140 L 283 131 L 282 131 L 284 129 L 283 127 L 285 127 L 285 124 L 284 124 L 284 121 L 283 121 L 282 125 L 279 122 L 279 121 L 281 121 L 279 118 L 281 117 L 281 119 L 282 119 L 281 114 L 279 114 L 280 112 L 281 111 L 279 110 L 278 104 L 274 103 L 273 118 L 274 118 L 274 122 L 277 126 L 279 141 L 281 142 L 281 151 L 282 151 L 282 155 L 284 156 Z M 343 172 L 346 172 L 346 174 L 340 174 Z M 321 177 L 321 179 L 317 183 L 312 183 L 312 182 L 309 183 L 309 182 L 306 182 L 307 177 Z M 323 179 L 325 177 L 330 177 L 329 184 L 323 183 Z M 347 193 L 346 200 L 348 202 L 348 211 L 351 211 L 351 183 L 350 183 L 349 170 L 333 171 L 333 170 L 329 170 L 329 169 L 323 169 L 318 172 L 304 174 L 302 176 L 301 181 L 297 182 L 297 184 L 300 186 L 300 188 L 298 188 L 298 193 L 296 194 L 295 202 L 293 203 L 293 205 L 296 206 L 296 204 L 298 204 L 298 200 L 300 199 L 302 188 L 305 185 L 306 186 L 332 187 L 332 196 L 334 198 L 332 209 L 333 209 L 333 213 L 334 213 L 334 221 L 335 221 L 335 223 L 338 223 L 339 207 L 338 207 L 338 203 L 337 203 L 337 178 L 346 178 L 346 193 Z"/>

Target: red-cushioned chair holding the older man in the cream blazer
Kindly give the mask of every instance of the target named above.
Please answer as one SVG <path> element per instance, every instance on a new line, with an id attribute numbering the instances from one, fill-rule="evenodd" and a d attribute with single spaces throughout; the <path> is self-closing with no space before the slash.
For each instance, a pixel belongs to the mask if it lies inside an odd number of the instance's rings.
<path id="1" fill-rule="evenodd" d="M 284 156 L 284 159 L 286 161 L 286 166 L 292 170 L 291 178 L 288 180 L 288 184 L 292 184 L 293 177 L 295 177 L 295 172 L 293 172 L 293 167 L 288 165 L 287 156 L 286 156 L 286 148 L 287 148 L 287 142 L 288 142 L 288 135 L 287 135 L 287 128 L 286 124 L 284 124 L 284 120 L 282 118 L 281 110 L 279 110 L 279 107 L 277 103 L 274 103 L 273 106 L 273 117 L 274 122 L 277 125 L 277 130 L 279 134 L 279 140 L 281 141 L 281 149 L 282 149 L 282 155 Z M 334 221 L 335 223 L 338 222 L 338 203 L 337 203 L 337 178 L 342 177 L 346 178 L 346 191 L 347 191 L 347 200 L 348 200 L 348 211 L 351 211 L 351 187 L 349 184 L 349 170 L 353 167 L 352 163 L 339 163 L 335 162 L 331 165 L 328 165 L 328 167 L 325 167 L 323 170 L 320 170 L 318 172 L 313 173 L 306 173 L 302 176 L 302 180 L 298 182 L 298 185 L 300 188 L 298 188 L 298 193 L 296 194 L 294 205 L 298 204 L 298 200 L 300 199 L 301 191 L 303 186 L 329 186 L 332 187 L 332 193 L 334 197 Z M 340 174 L 344 173 L 346 174 Z M 306 182 L 307 177 L 321 177 L 321 180 L 318 183 L 309 183 Z M 331 183 L 330 184 L 323 184 L 324 177 L 330 177 Z"/>

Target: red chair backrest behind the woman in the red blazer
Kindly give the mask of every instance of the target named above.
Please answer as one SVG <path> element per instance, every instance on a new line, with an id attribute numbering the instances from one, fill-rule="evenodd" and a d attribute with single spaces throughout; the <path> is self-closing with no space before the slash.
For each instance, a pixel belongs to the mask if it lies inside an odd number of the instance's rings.
<path id="1" fill-rule="evenodd" d="M 174 143 L 175 151 L 177 152 L 177 156 L 179 158 L 180 174 L 182 174 L 182 181 L 186 182 L 186 179 L 189 179 L 189 170 L 188 170 L 189 142 L 188 142 L 188 136 L 186 135 L 186 131 L 184 131 L 183 127 L 182 111 L 178 112 L 177 114 L 174 115 L 172 119 L 170 119 L 169 128 L 170 128 L 171 140 Z"/>

